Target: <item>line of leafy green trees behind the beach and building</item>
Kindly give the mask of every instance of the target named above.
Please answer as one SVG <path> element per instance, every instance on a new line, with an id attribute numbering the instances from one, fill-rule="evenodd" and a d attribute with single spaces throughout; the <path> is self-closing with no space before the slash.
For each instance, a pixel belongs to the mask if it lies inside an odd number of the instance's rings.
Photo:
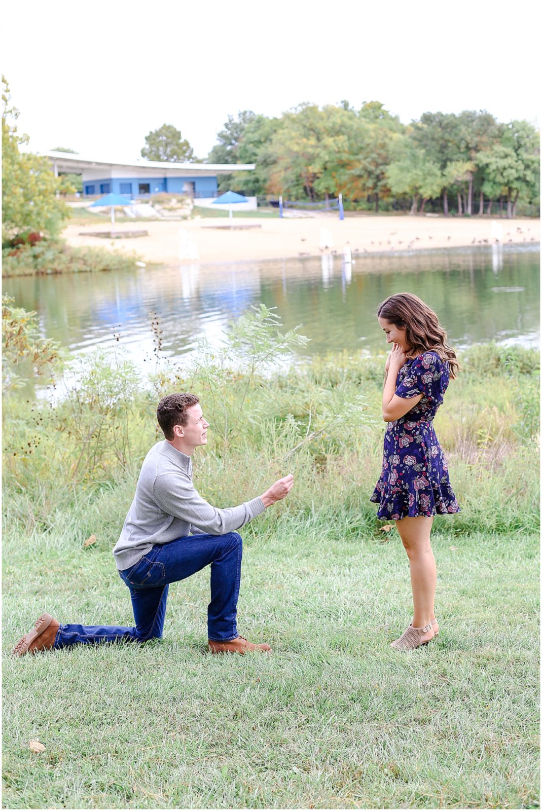
<path id="1" fill-rule="evenodd" d="M 196 160 L 181 133 L 164 125 L 141 151 L 151 160 Z M 402 124 L 380 101 L 302 104 L 269 118 L 252 110 L 228 116 L 208 163 L 254 163 L 221 178 L 220 189 L 290 200 L 342 193 L 354 208 L 375 212 L 431 206 L 445 215 L 492 213 L 518 201 L 538 206 L 540 132 L 530 122 L 497 122 L 485 110 L 424 113 Z"/>

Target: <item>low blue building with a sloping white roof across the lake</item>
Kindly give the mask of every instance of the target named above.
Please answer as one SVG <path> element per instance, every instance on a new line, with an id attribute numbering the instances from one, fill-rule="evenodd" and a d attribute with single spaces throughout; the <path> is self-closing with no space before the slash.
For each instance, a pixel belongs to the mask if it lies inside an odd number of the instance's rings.
<path id="1" fill-rule="evenodd" d="M 219 174 L 250 171 L 255 164 L 166 163 L 145 161 L 94 161 L 71 152 L 45 152 L 54 174 L 73 173 L 83 177 L 83 196 L 112 192 L 130 199 L 144 199 L 166 192 L 200 200 L 218 196 Z"/>

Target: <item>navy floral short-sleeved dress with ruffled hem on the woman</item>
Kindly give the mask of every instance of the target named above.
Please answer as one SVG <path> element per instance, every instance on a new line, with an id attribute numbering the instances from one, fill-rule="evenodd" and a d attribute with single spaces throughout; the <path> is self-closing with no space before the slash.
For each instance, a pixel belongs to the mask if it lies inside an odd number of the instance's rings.
<path id="1" fill-rule="evenodd" d="M 408 360 L 398 371 L 395 393 L 409 399 L 422 394 L 414 408 L 389 423 L 384 437 L 381 478 L 371 501 L 377 516 L 399 521 L 407 516 L 458 513 L 448 478 L 448 462 L 432 421 L 450 383 L 450 369 L 437 352 Z"/>

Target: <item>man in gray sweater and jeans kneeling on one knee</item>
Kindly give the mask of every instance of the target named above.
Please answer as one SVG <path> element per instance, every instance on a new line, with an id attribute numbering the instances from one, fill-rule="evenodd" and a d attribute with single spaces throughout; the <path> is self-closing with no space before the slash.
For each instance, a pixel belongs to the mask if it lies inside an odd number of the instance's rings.
<path id="1" fill-rule="evenodd" d="M 239 530 L 266 507 L 283 499 L 294 483 L 279 478 L 262 496 L 239 507 L 217 509 L 192 484 L 191 455 L 207 444 L 209 423 L 198 397 L 170 394 L 158 404 L 157 419 L 166 437 L 150 449 L 134 500 L 114 547 L 120 577 L 128 586 L 135 628 L 62 625 L 43 614 L 17 642 L 14 654 L 98 642 L 147 642 L 160 638 L 170 583 L 211 564 L 211 602 L 207 609 L 211 653 L 271 650 L 237 633 L 237 599 L 243 542 Z"/>

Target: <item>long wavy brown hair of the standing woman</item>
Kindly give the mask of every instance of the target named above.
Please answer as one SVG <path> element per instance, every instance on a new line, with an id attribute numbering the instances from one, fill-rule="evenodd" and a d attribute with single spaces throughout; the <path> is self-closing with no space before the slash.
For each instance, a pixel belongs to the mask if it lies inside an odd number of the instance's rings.
<path id="1" fill-rule="evenodd" d="M 438 323 L 437 313 L 421 298 L 413 293 L 389 296 L 378 305 L 376 315 L 385 318 L 389 324 L 406 329 L 405 337 L 411 347 L 409 354 L 416 356 L 432 351 L 437 352 L 441 360 L 447 360 L 450 377 L 454 380 L 459 369 L 457 355 L 448 344 L 448 336 Z"/>

